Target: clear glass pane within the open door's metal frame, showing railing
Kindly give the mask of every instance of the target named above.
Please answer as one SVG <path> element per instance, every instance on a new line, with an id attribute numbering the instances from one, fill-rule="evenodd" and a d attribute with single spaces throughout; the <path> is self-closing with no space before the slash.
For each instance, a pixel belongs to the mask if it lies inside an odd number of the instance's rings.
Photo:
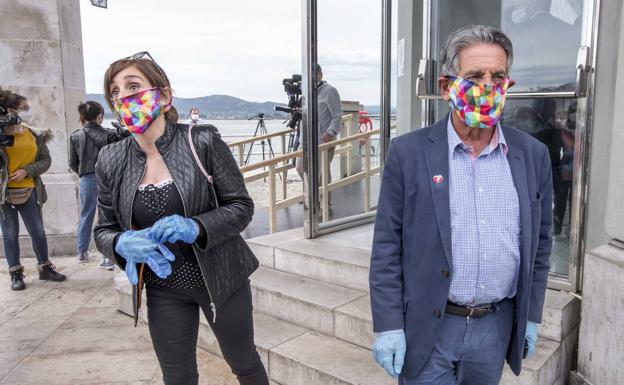
<path id="1" fill-rule="evenodd" d="M 338 29 L 340 33 L 336 33 Z M 319 223 L 325 225 L 373 211 L 379 194 L 379 135 L 371 133 L 379 127 L 379 2 L 319 1 L 317 33 L 318 63 L 327 82 L 317 88 L 318 128 L 320 133 L 326 131 L 324 115 L 340 123 L 338 129 L 332 129 L 339 133 L 332 138 L 331 149 L 318 144 L 320 207 L 315 211 Z M 329 92 L 328 86 L 335 92 Z M 333 106 L 336 102 L 340 112 Z M 368 136 L 349 139 L 360 133 Z"/>

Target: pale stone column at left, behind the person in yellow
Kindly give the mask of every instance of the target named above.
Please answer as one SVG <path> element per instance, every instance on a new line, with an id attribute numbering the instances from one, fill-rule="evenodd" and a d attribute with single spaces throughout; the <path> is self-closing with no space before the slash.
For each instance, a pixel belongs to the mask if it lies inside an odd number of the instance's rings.
<path id="1" fill-rule="evenodd" d="M 80 125 L 76 109 L 85 98 L 77 0 L 0 1 L 0 86 L 27 97 L 32 125 L 54 134 L 48 143 L 52 166 L 43 175 L 48 191 L 43 219 L 50 256 L 74 254 L 78 194 L 68 140 Z M 32 256 L 23 226 L 21 234 L 22 256 Z"/>

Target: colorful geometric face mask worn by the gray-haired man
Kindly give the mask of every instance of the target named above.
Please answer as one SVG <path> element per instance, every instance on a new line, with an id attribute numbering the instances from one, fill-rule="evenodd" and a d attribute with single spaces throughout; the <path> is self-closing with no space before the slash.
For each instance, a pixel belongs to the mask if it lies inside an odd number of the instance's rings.
<path id="1" fill-rule="evenodd" d="M 449 80 L 449 105 L 470 127 L 488 128 L 496 125 L 503 114 L 505 96 L 511 79 L 498 84 L 482 84 L 459 76 Z"/>

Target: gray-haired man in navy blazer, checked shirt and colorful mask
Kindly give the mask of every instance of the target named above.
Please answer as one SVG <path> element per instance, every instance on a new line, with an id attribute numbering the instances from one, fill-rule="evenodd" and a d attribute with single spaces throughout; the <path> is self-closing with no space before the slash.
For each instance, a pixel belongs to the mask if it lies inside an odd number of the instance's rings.
<path id="1" fill-rule="evenodd" d="M 370 293 L 373 353 L 400 384 L 498 384 L 505 359 L 517 375 L 535 349 L 553 186 L 546 146 L 498 123 L 512 59 L 497 29 L 452 33 L 450 114 L 390 145 Z"/>

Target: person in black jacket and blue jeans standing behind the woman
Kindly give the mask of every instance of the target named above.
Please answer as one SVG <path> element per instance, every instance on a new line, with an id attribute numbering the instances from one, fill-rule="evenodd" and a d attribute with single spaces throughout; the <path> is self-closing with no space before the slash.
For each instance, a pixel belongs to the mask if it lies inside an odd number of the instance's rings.
<path id="1" fill-rule="evenodd" d="M 77 261 L 85 263 L 89 260 L 89 243 L 97 204 L 95 162 L 104 146 L 123 139 L 129 133 L 124 135 L 102 127 L 104 108 L 98 102 L 89 100 L 80 103 L 78 113 L 83 127 L 74 131 L 69 137 L 69 167 L 80 177 L 80 221 L 76 246 Z M 103 256 L 99 267 L 112 270 L 114 264 Z"/>

